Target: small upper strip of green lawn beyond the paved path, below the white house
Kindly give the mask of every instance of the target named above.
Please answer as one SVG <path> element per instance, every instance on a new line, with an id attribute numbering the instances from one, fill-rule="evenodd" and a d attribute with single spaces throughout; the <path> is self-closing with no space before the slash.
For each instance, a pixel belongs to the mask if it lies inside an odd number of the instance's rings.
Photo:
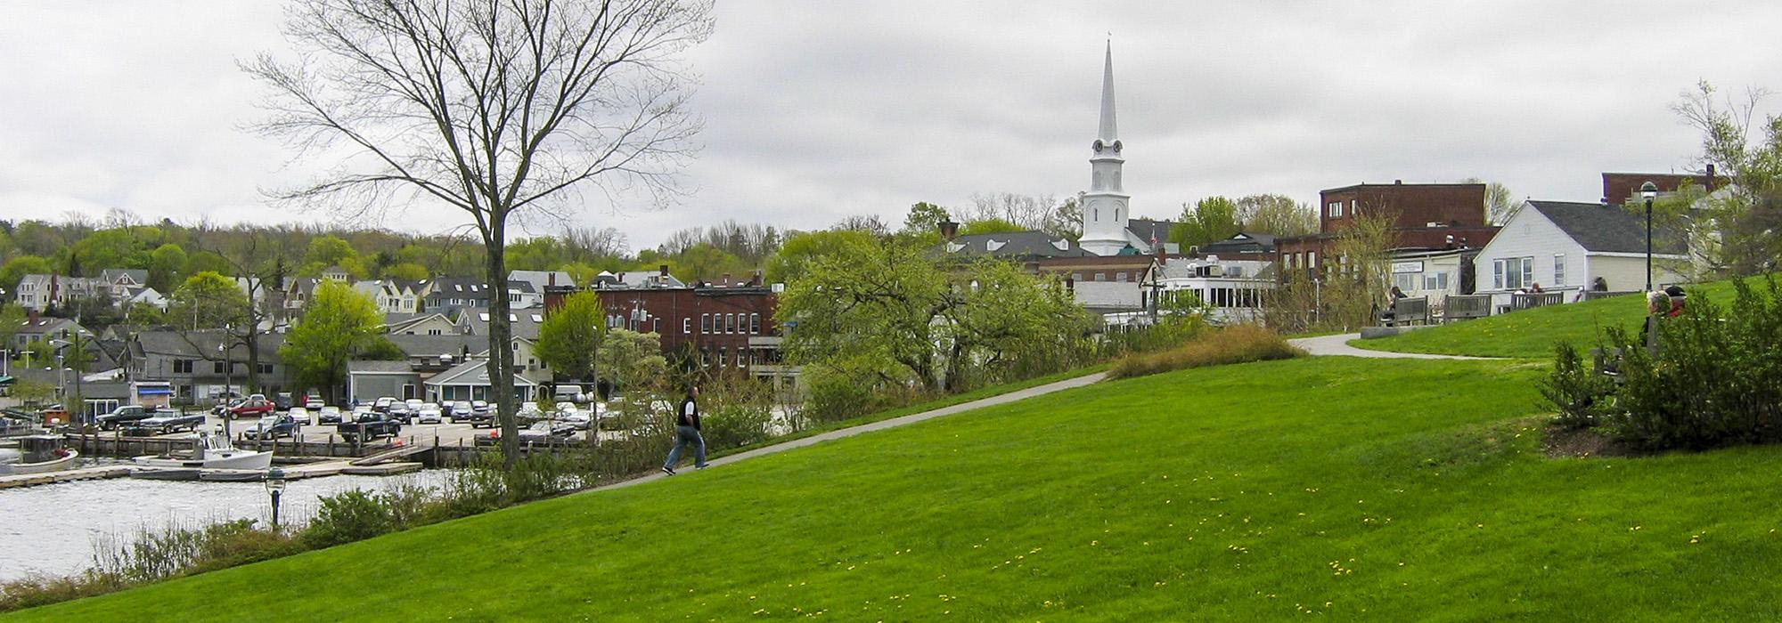
<path id="1" fill-rule="evenodd" d="M 1759 285 L 1761 287 L 1761 285 Z M 1686 287 L 1695 295 L 1707 294 L 1716 304 L 1732 303 L 1732 283 L 1716 281 Z M 1639 331 L 1647 303 L 1638 294 L 1590 303 L 1568 303 L 1500 313 L 1479 320 L 1417 329 L 1390 338 L 1353 340 L 1361 349 L 1395 352 L 1470 354 L 1490 358 L 1552 358 L 1554 344 L 1570 342 L 1579 351 L 1597 344 L 1598 329 L 1620 324 Z"/>

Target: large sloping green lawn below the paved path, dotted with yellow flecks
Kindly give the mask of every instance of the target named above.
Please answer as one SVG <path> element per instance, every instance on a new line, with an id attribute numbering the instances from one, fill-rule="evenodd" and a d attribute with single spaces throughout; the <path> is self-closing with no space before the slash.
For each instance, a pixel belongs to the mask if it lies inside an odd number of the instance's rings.
<path id="1" fill-rule="evenodd" d="M 1782 616 L 1782 449 L 1547 459 L 1541 368 L 1112 381 L 14 619 Z"/>

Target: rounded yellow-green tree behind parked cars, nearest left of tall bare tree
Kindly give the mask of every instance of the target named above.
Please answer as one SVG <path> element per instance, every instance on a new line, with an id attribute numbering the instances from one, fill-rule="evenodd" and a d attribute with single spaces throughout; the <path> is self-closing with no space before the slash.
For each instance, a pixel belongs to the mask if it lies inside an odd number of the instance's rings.
<path id="1" fill-rule="evenodd" d="M 303 308 L 303 319 L 285 333 L 278 356 L 296 370 L 303 386 L 340 397 L 346 363 L 376 344 L 383 315 L 369 295 L 346 283 L 323 281 Z"/>

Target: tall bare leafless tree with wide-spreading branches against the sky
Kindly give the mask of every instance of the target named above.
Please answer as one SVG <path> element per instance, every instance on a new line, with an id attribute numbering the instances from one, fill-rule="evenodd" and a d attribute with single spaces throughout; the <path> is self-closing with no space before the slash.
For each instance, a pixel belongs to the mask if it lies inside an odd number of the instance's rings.
<path id="1" fill-rule="evenodd" d="M 294 0 L 285 36 L 298 57 L 244 66 L 273 91 L 258 130 L 339 160 L 273 196 L 349 217 L 388 199 L 463 210 L 488 283 L 506 283 L 510 219 L 561 219 L 586 189 L 658 205 L 677 192 L 699 132 L 679 55 L 711 25 L 706 0 Z M 511 466 L 508 299 L 492 297 L 488 312 L 488 379 Z"/>

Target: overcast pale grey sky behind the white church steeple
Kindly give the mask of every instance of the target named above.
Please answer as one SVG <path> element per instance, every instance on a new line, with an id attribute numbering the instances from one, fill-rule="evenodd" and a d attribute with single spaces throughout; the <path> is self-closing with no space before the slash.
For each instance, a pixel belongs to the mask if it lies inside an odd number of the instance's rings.
<path id="1" fill-rule="evenodd" d="M 273 0 L 0 2 L 0 217 L 328 221 L 266 206 L 258 189 L 314 164 L 241 132 L 262 91 L 235 62 L 283 50 L 280 20 Z M 649 247 L 722 219 L 900 224 L 916 201 L 1075 194 L 1108 32 L 1135 215 L 1468 176 L 1595 201 L 1600 171 L 1693 166 L 1698 137 L 1668 105 L 1696 80 L 1782 89 L 1777 25 L 1777 2 L 732 0 L 690 55 L 691 194 L 592 203 L 577 224 Z M 380 226 L 462 222 L 421 208 Z"/>

